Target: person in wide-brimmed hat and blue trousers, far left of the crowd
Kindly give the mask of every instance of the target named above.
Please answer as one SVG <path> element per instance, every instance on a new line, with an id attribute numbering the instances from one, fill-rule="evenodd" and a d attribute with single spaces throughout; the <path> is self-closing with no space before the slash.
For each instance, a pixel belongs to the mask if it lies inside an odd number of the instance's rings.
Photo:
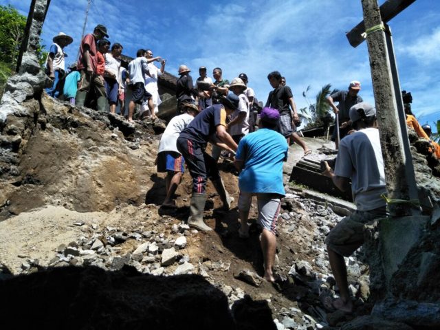
<path id="1" fill-rule="evenodd" d="M 58 98 L 60 91 L 56 88 L 61 79 L 65 76 L 65 60 L 64 58 L 67 56 L 64 52 L 64 47 L 70 45 L 74 39 L 72 36 L 67 36 L 63 32 L 58 33 L 52 39 L 54 43 L 50 46 L 49 54 L 47 54 L 46 58 L 46 74 L 54 80 L 52 87 L 46 88 L 46 93 L 52 98 Z"/>

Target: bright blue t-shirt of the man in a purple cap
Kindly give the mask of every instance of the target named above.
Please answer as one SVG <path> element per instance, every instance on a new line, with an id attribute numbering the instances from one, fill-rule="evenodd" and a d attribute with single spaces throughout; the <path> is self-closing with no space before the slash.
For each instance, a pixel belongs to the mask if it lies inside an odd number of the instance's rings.
<path id="1" fill-rule="evenodd" d="M 284 196 L 283 162 L 288 148 L 285 137 L 272 129 L 262 128 L 243 137 L 235 156 L 244 162 L 240 190 Z"/>

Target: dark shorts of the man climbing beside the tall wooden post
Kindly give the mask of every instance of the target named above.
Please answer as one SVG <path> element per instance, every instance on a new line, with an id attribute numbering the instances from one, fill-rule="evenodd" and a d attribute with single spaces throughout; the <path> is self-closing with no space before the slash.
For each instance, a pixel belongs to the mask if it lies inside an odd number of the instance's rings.
<path id="1" fill-rule="evenodd" d="M 350 256 L 364 243 L 364 225 L 381 217 L 386 217 L 385 206 L 375 210 L 353 212 L 330 230 L 325 239 L 327 247 L 341 256 Z"/>

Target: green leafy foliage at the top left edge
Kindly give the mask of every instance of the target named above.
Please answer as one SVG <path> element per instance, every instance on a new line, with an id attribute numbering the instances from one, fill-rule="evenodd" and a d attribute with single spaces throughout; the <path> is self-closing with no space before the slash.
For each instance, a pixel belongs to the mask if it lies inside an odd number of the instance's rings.
<path id="1" fill-rule="evenodd" d="M 13 69 L 17 65 L 26 17 L 12 7 L 0 5 L 0 61 Z"/>

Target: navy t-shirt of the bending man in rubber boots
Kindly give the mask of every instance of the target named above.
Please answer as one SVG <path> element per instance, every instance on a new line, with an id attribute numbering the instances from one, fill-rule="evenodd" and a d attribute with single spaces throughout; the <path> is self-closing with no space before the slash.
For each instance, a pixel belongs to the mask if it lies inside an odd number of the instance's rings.
<path id="1" fill-rule="evenodd" d="M 226 115 L 226 110 L 221 104 L 214 104 L 203 109 L 186 129 L 181 131 L 180 136 L 206 146 L 217 126 L 226 126 Z"/>

